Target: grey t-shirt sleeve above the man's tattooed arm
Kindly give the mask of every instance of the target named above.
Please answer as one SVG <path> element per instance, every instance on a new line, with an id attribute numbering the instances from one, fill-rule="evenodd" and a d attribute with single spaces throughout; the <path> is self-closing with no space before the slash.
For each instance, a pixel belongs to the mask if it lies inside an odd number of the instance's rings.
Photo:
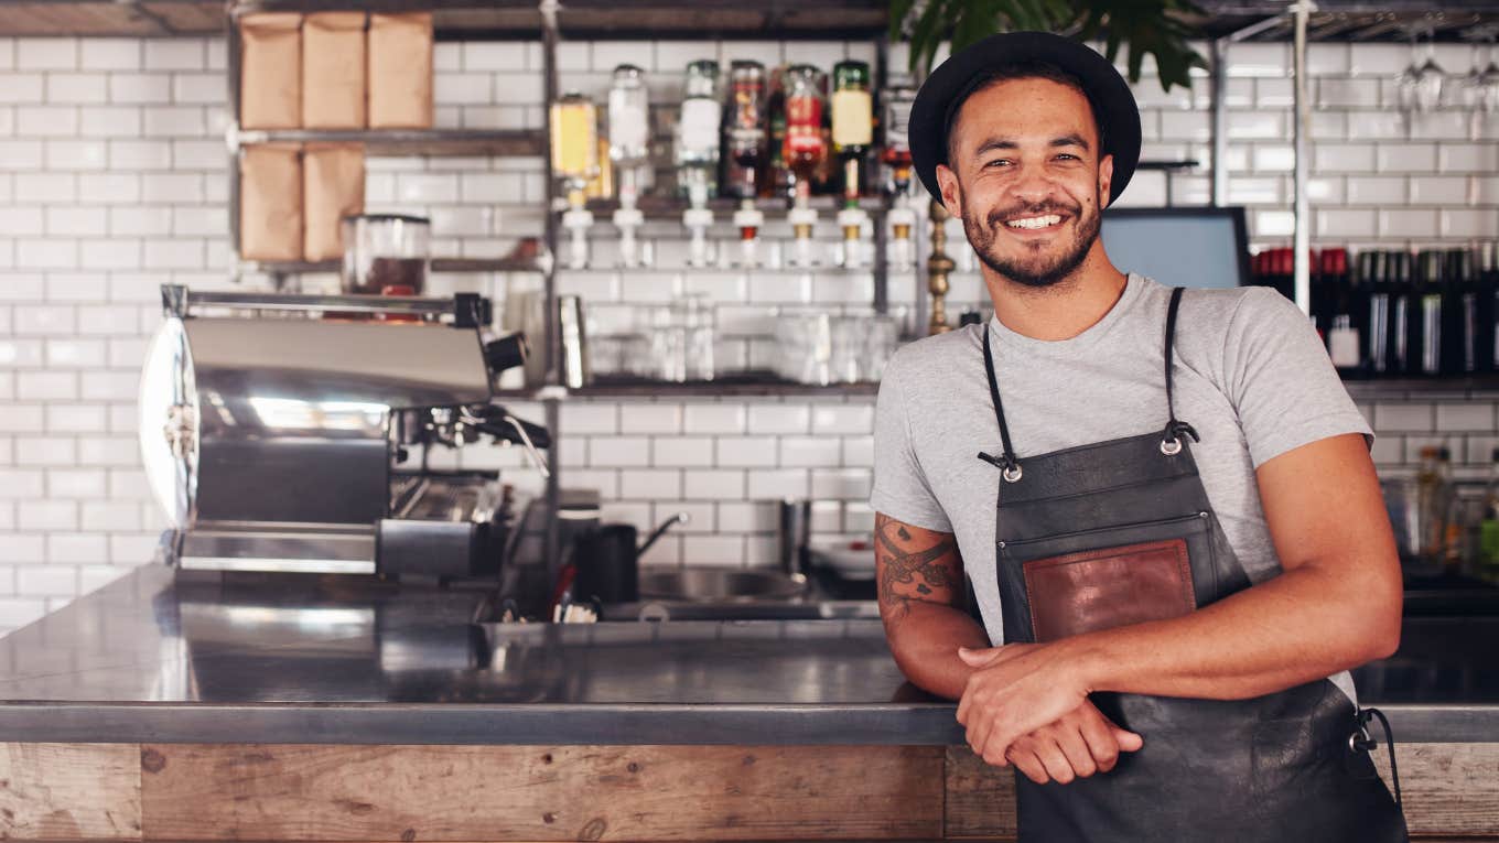
<path id="1" fill-rule="evenodd" d="M 916 458 L 899 369 L 896 356 L 880 380 L 880 398 L 874 410 L 874 488 L 869 507 L 895 520 L 952 532 L 952 522 L 938 506 Z"/>

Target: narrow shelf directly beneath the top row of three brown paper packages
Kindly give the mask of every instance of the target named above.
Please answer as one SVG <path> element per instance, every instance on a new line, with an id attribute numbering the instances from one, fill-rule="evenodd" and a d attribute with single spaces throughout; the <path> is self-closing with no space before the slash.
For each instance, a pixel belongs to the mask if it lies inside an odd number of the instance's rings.
<path id="1" fill-rule="evenodd" d="M 489 129 L 232 129 L 234 147 L 247 144 L 364 144 L 370 158 L 432 156 L 541 156 L 546 141 L 540 130 Z"/>

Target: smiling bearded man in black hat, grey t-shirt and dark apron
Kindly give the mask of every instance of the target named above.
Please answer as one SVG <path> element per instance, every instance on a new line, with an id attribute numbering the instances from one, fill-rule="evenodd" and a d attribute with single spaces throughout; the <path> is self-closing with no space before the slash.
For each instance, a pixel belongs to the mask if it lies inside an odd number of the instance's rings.
<path id="1" fill-rule="evenodd" d="M 1370 430 L 1274 291 L 1109 262 L 1139 140 L 1118 72 L 1046 33 L 985 39 L 917 94 L 917 172 L 995 316 L 880 387 L 890 650 L 1022 774 L 1021 840 L 1405 840 L 1348 675 L 1400 634 Z"/>

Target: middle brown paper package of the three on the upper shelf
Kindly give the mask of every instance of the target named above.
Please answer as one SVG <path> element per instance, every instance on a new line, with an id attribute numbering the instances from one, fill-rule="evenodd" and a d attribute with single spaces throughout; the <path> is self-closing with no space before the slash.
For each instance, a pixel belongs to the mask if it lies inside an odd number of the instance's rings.
<path id="1" fill-rule="evenodd" d="M 301 126 L 364 128 L 364 12 L 318 12 L 303 21 Z"/>

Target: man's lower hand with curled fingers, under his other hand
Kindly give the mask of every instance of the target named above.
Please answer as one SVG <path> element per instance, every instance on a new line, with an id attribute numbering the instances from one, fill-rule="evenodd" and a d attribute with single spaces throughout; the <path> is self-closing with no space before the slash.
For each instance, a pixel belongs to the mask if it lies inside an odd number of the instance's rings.
<path id="1" fill-rule="evenodd" d="M 1084 700 L 1061 720 L 1021 735 L 998 764 L 988 756 L 983 760 L 995 766 L 1013 764 L 1037 784 L 1066 784 L 1114 770 L 1121 752 L 1136 752 L 1144 744 L 1139 735 L 1120 729 L 1093 702 Z"/>

